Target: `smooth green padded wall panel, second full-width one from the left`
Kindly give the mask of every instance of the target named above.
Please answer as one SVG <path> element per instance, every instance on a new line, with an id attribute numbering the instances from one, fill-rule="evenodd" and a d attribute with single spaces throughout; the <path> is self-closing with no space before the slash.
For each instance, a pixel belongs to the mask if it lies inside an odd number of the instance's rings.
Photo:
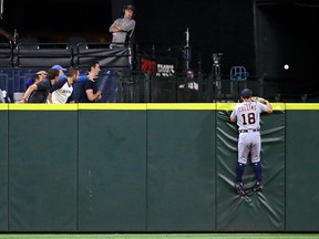
<path id="1" fill-rule="evenodd" d="M 121 104 L 90 104 L 91 110 L 83 105 L 79 231 L 145 231 L 146 111 L 121 110 Z"/>

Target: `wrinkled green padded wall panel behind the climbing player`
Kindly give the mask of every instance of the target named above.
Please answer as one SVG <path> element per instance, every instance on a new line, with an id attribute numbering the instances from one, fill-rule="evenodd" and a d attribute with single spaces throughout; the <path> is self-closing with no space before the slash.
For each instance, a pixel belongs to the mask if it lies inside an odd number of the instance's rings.
<path id="1" fill-rule="evenodd" d="M 271 115 L 261 115 L 261 165 L 264 189 L 240 197 L 234 189 L 237 163 L 237 125 L 229 121 L 235 104 L 218 107 L 217 113 L 217 230 L 285 230 L 285 112 L 279 105 Z M 223 110 L 223 111 L 222 111 Z M 244 187 L 251 188 L 255 174 L 247 164 Z"/>

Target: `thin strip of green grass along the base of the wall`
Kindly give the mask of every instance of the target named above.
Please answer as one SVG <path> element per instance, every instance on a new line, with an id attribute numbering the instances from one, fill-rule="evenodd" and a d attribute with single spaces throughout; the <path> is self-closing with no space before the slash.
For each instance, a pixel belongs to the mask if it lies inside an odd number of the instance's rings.
<path id="1" fill-rule="evenodd" d="M 319 233 L 0 233 L 0 239 L 319 239 Z"/>

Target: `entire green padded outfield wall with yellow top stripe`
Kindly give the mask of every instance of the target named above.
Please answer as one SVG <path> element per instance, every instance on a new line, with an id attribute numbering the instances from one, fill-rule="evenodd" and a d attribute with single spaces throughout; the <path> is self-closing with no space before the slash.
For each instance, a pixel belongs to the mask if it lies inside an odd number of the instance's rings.
<path id="1" fill-rule="evenodd" d="M 245 197 L 234 105 L 0 104 L 0 231 L 318 232 L 319 104 L 261 115 Z"/>

